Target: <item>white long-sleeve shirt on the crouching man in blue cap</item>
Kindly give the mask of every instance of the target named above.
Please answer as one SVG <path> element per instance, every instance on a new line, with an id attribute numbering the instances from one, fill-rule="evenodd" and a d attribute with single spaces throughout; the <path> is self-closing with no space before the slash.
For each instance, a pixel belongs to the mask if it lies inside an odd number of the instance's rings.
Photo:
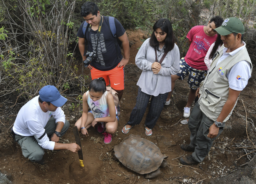
<path id="1" fill-rule="evenodd" d="M 55 142 L 49 140 L 44 127 L 51 115 L 56 120 L 55 122 L 65 123 L 65 114 L 60 107 L 55 112 L 43 112 L 39 106 L 38 97 L 39 95 L 20 109 L 13 125 L 13 131 L 21 136 L 34 136 L 42 148 L 53 150 Z"/>

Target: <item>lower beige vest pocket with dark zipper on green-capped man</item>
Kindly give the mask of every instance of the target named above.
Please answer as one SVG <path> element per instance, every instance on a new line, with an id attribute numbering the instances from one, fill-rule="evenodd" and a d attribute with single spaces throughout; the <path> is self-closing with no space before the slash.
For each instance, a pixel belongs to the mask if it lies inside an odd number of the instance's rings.
<path id="1" fill-rule="evenodd" d="M 205 105 L 210 111 L 215 112 L 220 99 L 221 97 L 205 89 L 200 103 L 203 103 L 203 105 Z"/>

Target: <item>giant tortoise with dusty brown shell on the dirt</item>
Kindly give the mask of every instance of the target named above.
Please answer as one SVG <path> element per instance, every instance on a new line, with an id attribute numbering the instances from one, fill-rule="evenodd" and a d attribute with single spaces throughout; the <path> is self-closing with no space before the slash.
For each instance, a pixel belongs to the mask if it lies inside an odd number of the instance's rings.
<path id="1" fill-rule="evenodd" d="M 151 141 L 139 135 L 130 135 L 114 147 L 114 158 L 128 169 L 145 178 L 154 178 L 161 173 L 159 167 L 166 167 L 168 156 L 164 156 L 160 149 Z"/>

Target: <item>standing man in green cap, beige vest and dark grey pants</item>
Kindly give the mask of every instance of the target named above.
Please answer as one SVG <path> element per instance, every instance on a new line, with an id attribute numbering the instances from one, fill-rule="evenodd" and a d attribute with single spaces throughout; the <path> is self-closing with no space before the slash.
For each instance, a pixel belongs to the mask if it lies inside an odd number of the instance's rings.
<path id="1" fill-rule="evenodd" d="M 252 64 L 243 42 L 243 23 L 230 17 L 214 30 L 221 35 L 223 45 L 214 54 L 212 67 L 196 91 L 199 100 L 188 121 L 190 144 L 180 145 L 184 151 L 193 153 L 180 158 L 184 164 L 197 164 L 208 155 L 251 77 Z"/>

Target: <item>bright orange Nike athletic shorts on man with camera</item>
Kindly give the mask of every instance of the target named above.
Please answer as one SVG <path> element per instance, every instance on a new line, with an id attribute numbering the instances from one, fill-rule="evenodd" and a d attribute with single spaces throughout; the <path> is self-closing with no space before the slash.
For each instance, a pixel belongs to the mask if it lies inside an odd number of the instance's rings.
<path id="1" fill-rule="evenodd" d="M 124 67 L 120 68 L 113 68 L 109 71 L 101 71 L 97 70 L 96 68 L 92 67 L 91 70 L 92 80 L 102 77 L 106 81 L 106 86 L 109 85 L 114 90 L 123 90 L 124 89 Z"/>

